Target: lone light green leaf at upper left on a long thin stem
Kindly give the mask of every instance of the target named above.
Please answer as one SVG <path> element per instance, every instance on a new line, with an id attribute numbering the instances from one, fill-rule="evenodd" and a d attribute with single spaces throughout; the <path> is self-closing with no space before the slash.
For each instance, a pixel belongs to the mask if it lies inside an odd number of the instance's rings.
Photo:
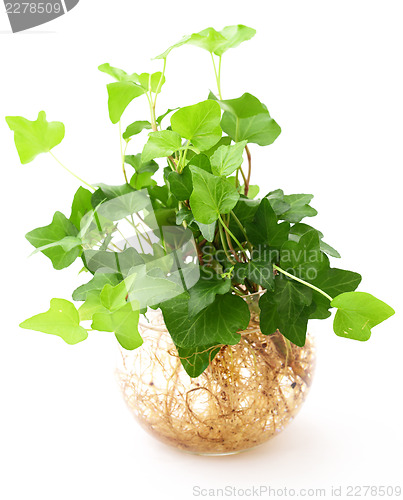
<path id="1" fill-rule="evenodd" d="M 64 139 L 63 123 L 48 122 L 44 111 L 39 112 L 36 121 L 22 116 L 7 116 L 6 122 L 14 132 L 15 146 L 23 165 L 41 153 L 48 153 Z"/>

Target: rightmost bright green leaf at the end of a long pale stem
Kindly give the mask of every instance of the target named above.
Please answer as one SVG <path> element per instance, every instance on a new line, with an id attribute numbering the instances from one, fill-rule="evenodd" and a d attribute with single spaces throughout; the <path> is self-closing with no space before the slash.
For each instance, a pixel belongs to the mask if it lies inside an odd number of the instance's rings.
<path id="1" fill-rule="evenodd" d="M 371 336 L 371 328 L 390 318 L 395 311 L 365 292 L 346 292 L 331 302 L 337 308 L 333 328 L 339 337 L 365 341 Z"/>

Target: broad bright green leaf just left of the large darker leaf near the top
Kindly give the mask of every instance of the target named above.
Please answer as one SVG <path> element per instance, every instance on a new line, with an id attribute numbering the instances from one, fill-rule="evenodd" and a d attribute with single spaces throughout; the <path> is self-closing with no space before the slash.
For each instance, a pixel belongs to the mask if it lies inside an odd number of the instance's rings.
<path id="1" fill-rule="evenodd" d="M 174 132 L 204 151 L 220 140 L 220 119 L 220 106 L 215 101 L 207 100 L 176 111 L 171 116 L 171 126 Z"/>

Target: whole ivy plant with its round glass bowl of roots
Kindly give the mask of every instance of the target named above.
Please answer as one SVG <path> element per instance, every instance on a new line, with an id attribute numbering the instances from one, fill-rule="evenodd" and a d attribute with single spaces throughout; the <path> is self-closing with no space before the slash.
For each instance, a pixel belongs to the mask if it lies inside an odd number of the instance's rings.
<path id="1" fill-rule="evenodd" d="M 133 413 L 161 440 L 196 453 L 251 448 L 296 414 L 314 366 L 310 319 L 335 309 L 336 335 L 366 341 L 394 313 L 355 291 L 359 274 L 331 267 L 338 252 L 306 223 L 317 214 L 312 195 L 276 189 L 256 198 L 251 149 L 281 129 L 253 95 L 224 99 L 220 80 L 222 56 L 254 34 L 237 25 L 186 36 L 157 56 L 163 69 L 152 74 L 99 67 L 115 80 L 112 123 L 122 127 L 136 98 L 150 108 L 149 119 L 121 129 L 121 185 L 92 185 L 61 164 L 52 150 L 64 125 L 44 112 L 6 118 L 21 163 L 49 153 L 82 184 L 69 217 L 56 212 L 26 237 L 55 269 L 81 259 L 87 283 L 73 302 L 52 299 L 20 326 L 68 344 L 114 333 Z M 211 54 L 217 95 L 157 115 L 167 59 L 185 44 Z M 138 134 L 144 147 L 129 154 Z"/>

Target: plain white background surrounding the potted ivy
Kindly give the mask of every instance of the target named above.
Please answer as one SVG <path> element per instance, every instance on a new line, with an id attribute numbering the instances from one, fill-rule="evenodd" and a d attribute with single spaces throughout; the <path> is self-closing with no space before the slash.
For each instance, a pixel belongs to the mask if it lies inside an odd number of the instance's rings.
<path id="1" fill-rule="evenodd" d="M 0 14 L 2 326 L 0 497 L 190 499 L 195 485 L 330 488 L 397 485 L 402 471 L 403 74 L 401 0 L 153 2 L 81 0 L 68 15 L 13 35 Z M 303 410 L 279 437 L 232 457 L 189 456 L 145 434 L 114 380 L 113 335 L 75 347 L 18 323 L 70 298 L 77 262 L 56 272 L 24 234 L 56 210 L 69 215 L 78 185 L 51 158 L 21 166 L 3 117 L 44 109 L 66 124 L 55 154 L 89 182 L 121 183 L 118 129 L 107 116 L 104 62 L 143 72 L 182 35 L 243 23 L 257 36 L 223 60 L 226 98 L 251 92 L 283 133 L 252 145 L 253 181 L 265 192 L 315 194 L 312 222 L 363 274 L 360 290 L 397 310 L 356 343 L 314 321 L 318 364 Z M 207 52 L 168 59 L 159 111 L 215 90 Z M 134 101 L 127 123 L 147 119 Z M 134 141 L 132 152 L 141 148 Z M 400 309 L 400 311 L 399 311 Z"/>

